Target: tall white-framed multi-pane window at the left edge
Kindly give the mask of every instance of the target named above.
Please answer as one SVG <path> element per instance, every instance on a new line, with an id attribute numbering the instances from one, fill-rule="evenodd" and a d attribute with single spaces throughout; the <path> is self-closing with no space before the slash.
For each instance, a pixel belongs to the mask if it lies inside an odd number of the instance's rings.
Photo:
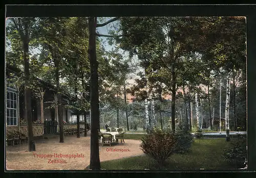
<path id="1" fill-rule="evenodd" d="M 17 93 L 7 91 L 7 125 L 17 125 Z"/>

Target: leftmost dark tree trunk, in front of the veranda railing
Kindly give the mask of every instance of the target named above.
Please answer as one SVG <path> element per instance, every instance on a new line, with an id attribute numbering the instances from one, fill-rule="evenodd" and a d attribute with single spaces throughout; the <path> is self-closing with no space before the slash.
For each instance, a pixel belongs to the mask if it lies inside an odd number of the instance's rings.
<path id="1" fill-rule="evenodd" d="M 26 23 L 25 28 L 28 28 Z M 27 32 L 28 33 L 28 32 Z M 26 38 L 23 41 L 24 50 L 24 71 L 25 71 L 25 116 L 27 118 L 27 130 L 28 130 L 28 142 L 29 151 L 35 151 L 35 142 L 33 138 L 33 126 L 32 126 L 32 109 L 31 109 L 31 89 L 29 86 L 30 72 L 29 72 L 29 41 L 28 34 L 26 33 Z"/>

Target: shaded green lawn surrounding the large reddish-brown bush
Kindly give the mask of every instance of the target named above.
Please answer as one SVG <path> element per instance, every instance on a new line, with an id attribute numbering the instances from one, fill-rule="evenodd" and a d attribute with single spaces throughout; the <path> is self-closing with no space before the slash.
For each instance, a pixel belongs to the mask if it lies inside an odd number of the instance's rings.
<path id="1" fill-rule="evenodd" d="M 127 136 L 127 135 L 126 135 Z M 130 135 L 129 135 L 130 137 Z M 131 135 L 131 137 L 137 137 Z M 126 138 L 127 139 L 127 138 Z M 173 154 L 166 165 L 159 168 L 155 160 L 147 155 L 112 160 L 101 163 L 102 169 L 108 170 L 141 170 L 141 169 L 231 169 L 223 160 L 223 149 L 229 147 L 225 139 L 195 140 L 191 152 L 187 154 Z"/>

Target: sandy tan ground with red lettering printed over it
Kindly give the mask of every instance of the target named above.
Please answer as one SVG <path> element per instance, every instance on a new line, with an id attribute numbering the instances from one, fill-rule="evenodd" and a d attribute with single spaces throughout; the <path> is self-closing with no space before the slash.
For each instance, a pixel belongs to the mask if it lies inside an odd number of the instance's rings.
<path id="1" fill-rule="evenodd" d="M 83 170 L 90 164 L 90 136 L 79 139 L 66 136 L 37 140 L 36 151 L 29 152 L 28 144 L 6 147 L 7 170 Z M 125 140 L 125 144 L 100 145 L 100 161 L 108 161 L 143 154 L 139 140 Z M 112 149 L 111 149 L 112 148 Z M 59 158 L 58 158 L 59 157 Z M 60 158 L 62 157 L 62 158 Z M 63 158 L 70 157 L 70 158 Z M 76 157 L 76 158 L 75 158 Z"/>

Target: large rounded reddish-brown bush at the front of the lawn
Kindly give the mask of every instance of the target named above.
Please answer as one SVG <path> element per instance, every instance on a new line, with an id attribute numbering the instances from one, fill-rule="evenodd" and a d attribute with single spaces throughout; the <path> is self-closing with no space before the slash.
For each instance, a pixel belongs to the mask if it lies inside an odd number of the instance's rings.
<path id="1" fill-rule="evenodd" d="M 142 151 L 155 159 L 159 165 L 163 165 L 164 161 L 174 153 L 176 144 L 172 133 L 161 129 L 154 129 L 152 133 L 143 137 L 141 141 L 140 147 Z"/>

